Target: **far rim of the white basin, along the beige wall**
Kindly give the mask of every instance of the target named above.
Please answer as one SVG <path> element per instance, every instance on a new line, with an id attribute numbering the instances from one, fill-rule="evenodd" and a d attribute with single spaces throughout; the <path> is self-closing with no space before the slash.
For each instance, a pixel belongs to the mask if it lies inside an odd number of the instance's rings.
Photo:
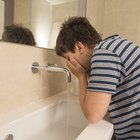
<path id="1" fill-rule="evenodd" d="M 16 123 L 20 122 L 22 119 L 33 116 L 38 113 L 38 111 L 43 111 L 45 109 L 52 108 L 53 106 L 62 102 L 74 102 L 79 104 L 78 97 L 73 95 L 68 95 L 66 92 L 58 93 L 56 95 L 41 99 L 37 102 L 26 105 L 22 110 L 17 109 L 15 111 L 6 114 L 5 118 L 0 118 L 0 131 L 6 128 L 14 126 Z M 31 116 L 30 116 L 31 115 Z M 11 117 L 10 117 L 11 116 Z"/>

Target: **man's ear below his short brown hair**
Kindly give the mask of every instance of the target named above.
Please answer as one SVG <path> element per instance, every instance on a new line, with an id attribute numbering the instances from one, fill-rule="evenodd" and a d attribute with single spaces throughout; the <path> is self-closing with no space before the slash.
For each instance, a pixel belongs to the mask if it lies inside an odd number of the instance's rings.
<path id="1" fill-rule="evenodd" d="M 85 52 L 85 48 L 84 44 L 80 41 L 75 43 L 75 52 L 78 51 L 80 54 L 83 54 Z"/>

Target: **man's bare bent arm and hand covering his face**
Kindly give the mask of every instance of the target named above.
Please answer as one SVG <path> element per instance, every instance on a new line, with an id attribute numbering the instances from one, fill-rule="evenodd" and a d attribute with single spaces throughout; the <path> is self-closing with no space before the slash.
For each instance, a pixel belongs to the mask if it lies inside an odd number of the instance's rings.
<path id="1" fill-rule="evenodd" d="M 101 120 L 109 107 L 111 94 L 87 91 L 87 75 L 81 65 L 76 61 L 67 62 L 71 72 L 79 79 L 79 100 L 85 117 L 96 123 Z"/>

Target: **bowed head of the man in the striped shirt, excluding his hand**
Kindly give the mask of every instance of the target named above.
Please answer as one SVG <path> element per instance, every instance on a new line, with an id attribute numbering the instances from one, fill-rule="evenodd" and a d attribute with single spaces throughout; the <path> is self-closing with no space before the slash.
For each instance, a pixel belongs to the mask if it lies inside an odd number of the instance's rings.
<path id="1" fill-rule="evenodd" d="M 88 70 L 92 49 L 101 40 L 85 17 L 72 17 L 62 24 L 56 41 L 56 54 L 69 61 L 74 58 Z"/>

